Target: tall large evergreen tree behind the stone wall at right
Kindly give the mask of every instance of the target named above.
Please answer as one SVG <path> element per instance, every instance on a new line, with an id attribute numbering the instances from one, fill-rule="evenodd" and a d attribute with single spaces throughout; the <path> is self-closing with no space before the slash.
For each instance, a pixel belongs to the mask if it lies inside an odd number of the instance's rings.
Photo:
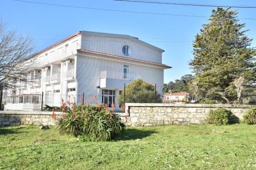
<path id="1" fill-rule="evenodd" d="M 226 103 L 237 100 L 236 79 L 243 77 L 248 85 L 256 78 L 256 51 L 249 47 L 252 39 L 245 35 L 248 30 L 237 14 L 229 8 L 212 10 L 209 22 L 195 37 L 194 59 L 189 63 L 199 87 Z"/>

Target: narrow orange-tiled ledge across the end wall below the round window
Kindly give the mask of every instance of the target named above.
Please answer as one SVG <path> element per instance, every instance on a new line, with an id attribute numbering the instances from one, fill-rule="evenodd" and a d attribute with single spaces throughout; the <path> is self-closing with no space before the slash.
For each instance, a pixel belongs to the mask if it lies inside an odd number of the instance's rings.
<path id="1" fill-rule="evenodd" d="M 150 62 L 150 61 L 145 61 L 145 60 L 138 60 L 138 59 L 133 59 L 133 58 L 126 58 L 126 57 L 121 57 L 121 56 L 116 56 L 116 55 L 111 55 L 111 54 L 106 54 L 106 53 L 99 53 L 99 52 L 94 52 L 94 51 L 90 51 L 90 50 L 78 49 L 77 51 L 78 52 L 84 52 L 84 53 L 97 54 L 97 55 L 101 55 L 101 56 L 119 58 L 119 59 L 124 59 L 124 60 L 138 61 L 138 62 L 143 62 L 143 63 L 148 63 L 148 64 L 154 64 L 154 65 L 164 66 L 166 68 L 172 68 L 171 66 L 168 66 L 168 65 L 165 65 L 165 64 L 160 64 L 160 63 L 155 63 L 155 62 Z"/>

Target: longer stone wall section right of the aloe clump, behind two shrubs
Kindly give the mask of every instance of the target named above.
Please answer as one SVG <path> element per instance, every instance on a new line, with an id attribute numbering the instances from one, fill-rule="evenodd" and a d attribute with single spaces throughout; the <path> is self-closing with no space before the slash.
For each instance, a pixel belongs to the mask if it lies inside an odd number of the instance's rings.
<path id="1" fill-rule="evenodd" d="M 123 122 L 131 126 L 204 124 L 207 113 L 218 107 L 230 110 L 242 120 L 252 105 L 126 103 Z M 255 107 L 255 106 L 254 106 Z"/>

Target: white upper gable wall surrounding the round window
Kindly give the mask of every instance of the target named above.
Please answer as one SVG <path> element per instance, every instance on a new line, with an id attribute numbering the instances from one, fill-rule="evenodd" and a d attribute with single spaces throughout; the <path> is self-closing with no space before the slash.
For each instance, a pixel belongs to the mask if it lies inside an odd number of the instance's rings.
<path id="1" fill-rule="evenodd" d="M 123 45 L 131 47 L 131 56 L 129 58 L 162 63 L 162 53 L 160 51 L 129 38 L 103 35 L 82 35 L 81 38 L 82 49 L 121 57 L 125 57 L 122 53 Z"/>

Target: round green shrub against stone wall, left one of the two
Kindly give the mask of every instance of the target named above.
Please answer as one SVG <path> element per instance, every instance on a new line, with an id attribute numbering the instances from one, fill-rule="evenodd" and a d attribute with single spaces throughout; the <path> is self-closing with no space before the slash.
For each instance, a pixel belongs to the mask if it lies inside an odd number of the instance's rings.
<path id="1" fill-rule="evenodd" d="M 207 123 L 217 126 L 227 125 L 231 123 L 232 113 L 225 108 L 217 108 L 216 110 L 210 110 L 207 115 Z"/>

